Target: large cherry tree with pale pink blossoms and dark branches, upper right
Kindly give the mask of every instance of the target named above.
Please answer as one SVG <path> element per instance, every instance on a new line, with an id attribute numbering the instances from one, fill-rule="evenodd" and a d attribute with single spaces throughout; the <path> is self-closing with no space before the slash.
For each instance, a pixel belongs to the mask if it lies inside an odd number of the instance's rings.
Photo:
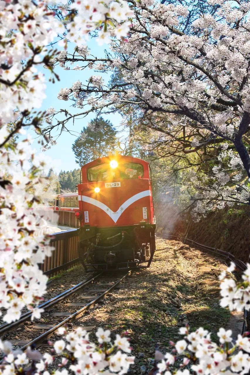
<path id="1" fill-rule="evenodd" d="M 206 184 L 200 184 L 196 169 L 189 166 L 194 189 L 199 190 L 195 196 L 190 194 L 193 214 L 199 218 L 225 204 L 249 204 L 250 157 L 245 147 L 250 124 L 248 8 L 243 0 L 237 4 L 221 1 L 220 6 L 208 1 L 204 8 L 185 1 L 130 2 L 134 12 L 130 33 L 111 31 L 111 52 L 100 57 L 67 52 L 63 62 L 68 69 L 77 63 L 81 70 L 94 67 L 113 71 L 115 77 L 119 72 L 117 82 L 105 84 L 103 76 L 92 75 L 80 90 L 63 89 L 59 99 L 72 99 L 81 111 L 67 113 L 54 126 L 65 126 L 72 118 L 96 110 L 119 109 L 126 115 L 127 108 L 133 108 L 134 123 L 167 132 L 173 144 L 184 145 L 185 151 L 186 147 L 196 152 L 221 143 L 220 163 Z M 53 115 L 50 118 L 53 123 Z M 175 132 L 178 126 L 185 127 L 187 136 Z M 228 157 L 229 165 L 225 164 Z"/>

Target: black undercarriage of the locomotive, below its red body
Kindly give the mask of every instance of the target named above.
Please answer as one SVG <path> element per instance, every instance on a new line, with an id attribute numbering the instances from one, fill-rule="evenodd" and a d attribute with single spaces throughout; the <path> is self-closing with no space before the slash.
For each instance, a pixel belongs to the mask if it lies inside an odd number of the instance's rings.
<path id="1" fill-rule="evenodd" d="M 154 252 L 154 224 L 80 228 L 78 253 L 87 272 L 148 268 Z"/>

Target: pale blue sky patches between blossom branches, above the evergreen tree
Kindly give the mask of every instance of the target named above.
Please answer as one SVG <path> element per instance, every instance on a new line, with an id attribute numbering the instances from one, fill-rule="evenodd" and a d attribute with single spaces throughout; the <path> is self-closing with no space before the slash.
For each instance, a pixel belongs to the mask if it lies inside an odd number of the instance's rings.
<path id="1" fill-rule="evenodd" d="M 91 49 L 91 53 L 95 56 L 100 57 L 104 54 L 104 49 L 108 49 L 108 45 L 104 44 L 103 46 L 98 46 L 95 39 L 90 40 L 88 43 L 89 48 Z M 81 110 L 79 108 L 71 107 L 72 101 L 62 101 L 57 99 L 57 94 L 61 88 L 71 87 L 72 84 L 80 80 L 81 82 L 85 82 L 87 78 L 92 74 L 99 74 L 94 72 L 93 70 L 86 69 L 84 71 L 65 71 L 63 68 L 59 66 L 56 68 L 56 73 L 60 76 L 60 81 L 56 81 L 54 84 L 48 82 L 50 78 L 50 72 L 47 69 L 42 69 L 42 72 L 45 74 L 47 80 L 47 89 L 46 95 L 47 98 L 43 101 L 42 107 L 39 110 L 47 110 L 49 107 L 54 107 L 57 109 L 66 108 L 71 113 L 79 113 Z M 105 78 L 105 83 L 108 82 L 110 75 L 103 74 Z M 94 114 L 90 114 L 87 117 L 84 117 L 79 120 L 75 120 L 74 126 L 73 121 L 69 124 L 68 127 L 74 131 L 74 135 L 69 134 L 68 132 L 63 132 L 62 135 L 57 139 L 57 145 L 51 147 L 50 150 L 43 152 L 43 156 L 45 160 L 53 167 L 54 171 L 58 174 L 60 170 L 72 170 L 74 168 L 79 168 L 79 165 L 75 162 L 75 156 L 71 149 L 72 143 L 77 138 L 78 134 L 80 133 L 83 126 L 86 126 L 87 123 L 94 117 Z M 121 116 L 119 114 L 109 114 L 103 116 L 105 119 L 108 119 L 113 123 L 114 126 L 119 126 L 121 121 Z M 35 133 L 32 132 L 32 136 Z M 56 134 L 56 132 L 54 132 Z M 40 153 L 40 146 L 34 140 L 33 147 Z"/>

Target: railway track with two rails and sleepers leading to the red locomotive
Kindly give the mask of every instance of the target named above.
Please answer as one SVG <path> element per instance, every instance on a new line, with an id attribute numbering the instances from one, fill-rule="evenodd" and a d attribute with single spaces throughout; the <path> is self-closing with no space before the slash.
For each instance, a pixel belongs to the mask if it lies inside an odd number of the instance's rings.
<path id="1" fill-rule="evenodd" d="M 129 272 L 120 272 L 119 275 L 112 273 L 111 275 L 104 274 L 99 272 L 93 276 L 90 276 L 88 279 L 80 282 L 69 290 L 59 294 L 58 296 L 44 302 L 39 305 L 40 308 L 44 308 L 47 313 L 51 312 L 50 308 L 56 308 L 57 310 L 64 311 L 53 311 L 50 314 L 50 324 L 38 324 L 28 326 L 29 333 L 32 333 L 32 338 L 30 340 L 10 340 L 12 345 L 18 346 L 22 351 L 25 351 L 28 347 L 38 348 L 46 339 L 49 339 L 54 332 L 61 326 L 64 326 L 68 323 L 74 323 L 82 317 L 82 315 L 89 309 L 91 309 L 96 303 L 105 298 L 105 296 L 110 293 L 113 289 L 119 286 L 119 284 L 130 274 Z M 97 287 L 98 289 L 92 289 Z M 77 295 L 78 294 L 78 295 Z M 63 306 L 60 306 L 63 300 L 69 296 L 74 296 L 74 300 L 81 300 L 82 302 L 69 302 L 65 303 Z M 73 300 L 73 301 L 74 301 Z M 55 306 L 56 305 L 56 306 Z M 78 309 L 77 309 L 78 308 Z M 42 313 L 42 317 L 44 313 Z M 13 322 L 11 324 L 3 324 L 0 326 L 0 336 L 11 333 L 15 327 L 20 326 L 20 324 L 30 320 L 31 314 L 29 312 L 23 314 L 20 320 Z M 60 322 L 52 323 L 53 319 L 63 318 Z M 47 318 L 48 320 L 48 318 Z M 44 319 L 42 319 L 42 322 Z M 40 321 L 41 322 L 41 321 Z M 87 331 L 91 331 L 94 327 L 84 327 Z M 20 331 L 21 332 L 21 331 Z M 26 331 L 27 332 L 27 331 Z M 37 335 L 39 332 L 39 335 Z"/>

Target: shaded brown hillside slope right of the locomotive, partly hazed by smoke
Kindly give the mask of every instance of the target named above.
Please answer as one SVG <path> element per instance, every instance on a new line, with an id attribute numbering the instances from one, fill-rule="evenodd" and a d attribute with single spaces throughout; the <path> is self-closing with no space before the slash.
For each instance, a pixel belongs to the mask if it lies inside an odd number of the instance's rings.
<path id="1" fill-rule="evenodd" d="M 157 231 L 184 237 L 188 222 L 164 194 L 154 199 Z M 192 222 L 188 238 L 217 249 L 228 251 L 244 262 L 250 254 L 250 207 L 238 206 L 209 213 L 199 222 Z"/>

